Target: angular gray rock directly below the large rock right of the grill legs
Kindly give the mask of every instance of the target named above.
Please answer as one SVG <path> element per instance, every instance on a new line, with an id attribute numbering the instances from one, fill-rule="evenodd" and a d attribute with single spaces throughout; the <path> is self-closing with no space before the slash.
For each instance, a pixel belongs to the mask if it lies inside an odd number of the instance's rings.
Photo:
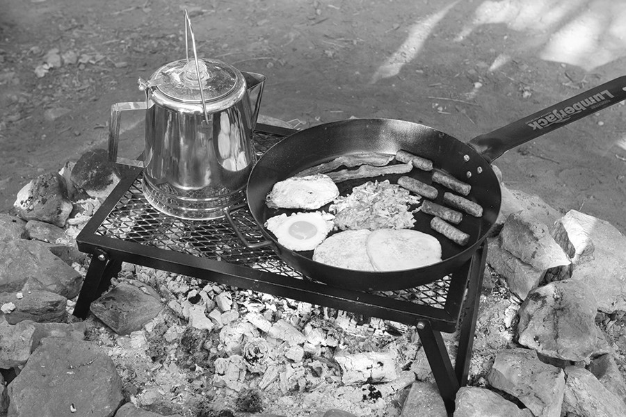
<path id="1" fill-rule="evenodd" d="M 543 363 L 533 350 L 517 348 L 499 352 L 488 381 L 494 388 L 514 395 L 535 416 L 561 415 L 563 370 Z"/>

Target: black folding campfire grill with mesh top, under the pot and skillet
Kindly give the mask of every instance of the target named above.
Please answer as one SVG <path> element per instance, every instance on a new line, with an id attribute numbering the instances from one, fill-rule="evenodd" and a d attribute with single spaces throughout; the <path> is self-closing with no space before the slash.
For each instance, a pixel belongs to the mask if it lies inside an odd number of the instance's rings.
<path id="1" fill-rule="evenodd" d="M 255 150 L 263 154 L 290 129 L 257 124 Z M 141 168 L 130 168 L 77 236 L 79 250 L 93 255 L 74 316 L 86 318 L 122 262 L 206 281 L 309 302 L 363 316 L 415 325 L 448 411 L 467 383 L 481 281 L 483 244 L 447 277 L 400 291 L 362 292 L 312 281 L 289 267 L 269 247 L 249 249 L 225 220 L 182 220 L 157 211 L 141 189 Z M 233 220 L 252 242 L 264 240 L 248 209 Z M 454 367 L 441 332 L 459 330 Z"/>

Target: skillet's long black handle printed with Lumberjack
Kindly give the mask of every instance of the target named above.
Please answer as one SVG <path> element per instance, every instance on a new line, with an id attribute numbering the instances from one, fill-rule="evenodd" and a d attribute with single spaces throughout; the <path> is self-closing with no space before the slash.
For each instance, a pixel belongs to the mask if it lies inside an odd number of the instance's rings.
<path id="1" fill-rule="evenodd" d="M 467 145 L 489 163 L 509 149 L 529 142 L 626 99 L 626 76 L 620 76 L 591 90 L 549 106 L 500 129 L 476 136 Z"/>

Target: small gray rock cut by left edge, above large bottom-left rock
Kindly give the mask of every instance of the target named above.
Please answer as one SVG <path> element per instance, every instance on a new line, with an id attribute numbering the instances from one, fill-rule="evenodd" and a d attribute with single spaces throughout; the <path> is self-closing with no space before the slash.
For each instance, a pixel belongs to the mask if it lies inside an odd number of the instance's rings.
<path id="1" fill-rule="evenodd" d="M 35 348 L 35 325 L 31 321 L 0 326 L 0 369 L 22 366 Z"/>

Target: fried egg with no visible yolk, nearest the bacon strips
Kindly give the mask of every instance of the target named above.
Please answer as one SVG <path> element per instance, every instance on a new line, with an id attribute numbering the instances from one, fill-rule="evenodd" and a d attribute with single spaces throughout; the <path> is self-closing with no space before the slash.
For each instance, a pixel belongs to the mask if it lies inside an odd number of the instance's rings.
<path id="1" fill-rule="evenodd" d="M 291 177 L 274 184 L 266 197 L 269 208 L 316 210 L 339 196 L 339 188 L 325 174 Z"/>

